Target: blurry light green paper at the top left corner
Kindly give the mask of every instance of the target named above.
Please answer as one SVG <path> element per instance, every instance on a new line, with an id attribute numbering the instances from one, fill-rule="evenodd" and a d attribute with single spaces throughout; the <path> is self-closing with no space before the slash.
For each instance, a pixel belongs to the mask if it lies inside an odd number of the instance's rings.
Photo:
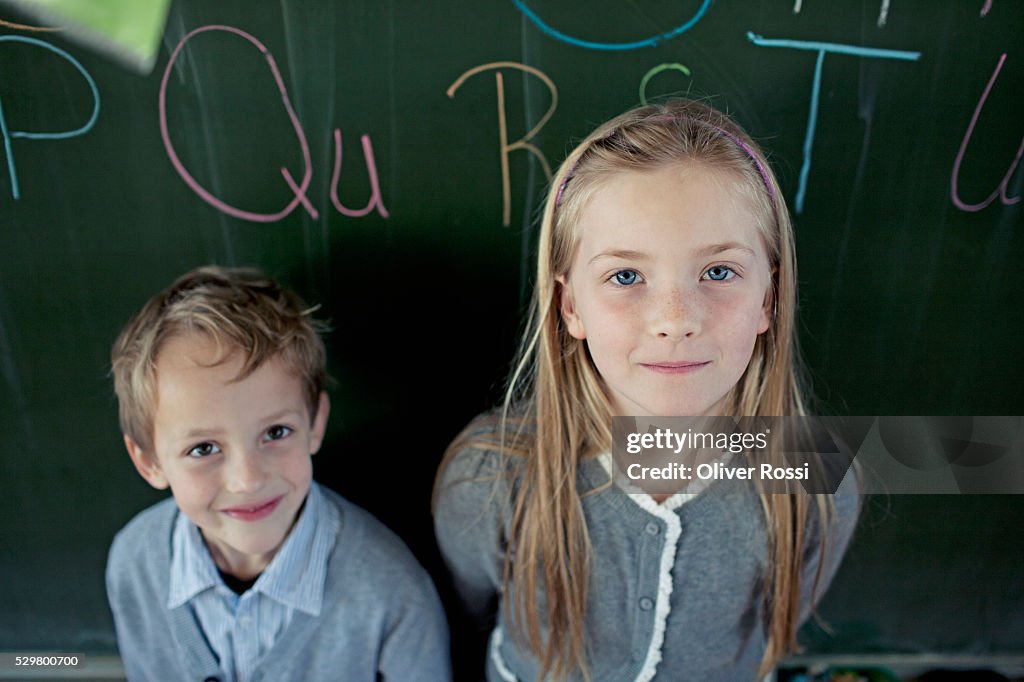
<path id="1" fill-rule="evenodd" d="M 142 74 L 157 59 L 171 0 L 0 0 Z"/>

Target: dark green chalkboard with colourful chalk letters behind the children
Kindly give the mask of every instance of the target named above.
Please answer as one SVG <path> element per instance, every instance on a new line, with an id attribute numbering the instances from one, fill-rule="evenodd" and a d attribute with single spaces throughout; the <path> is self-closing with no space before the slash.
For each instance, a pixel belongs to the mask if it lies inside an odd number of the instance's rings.
<path id="1" fill-rule="evenodd" d="M 109 348 L 208 262 L 322 305 L 316 476 L 437 571 L 433 472 L 501 394 L 546 167 L 642 98 L 769 151 L 822 410 L 1024 414 L 1020 2 L 176 0 L 148 76 L 31 25 L 0 13 L 0 650 L 114 650 L 106 548 L 161 496 Z M 872 503 L 815 646 L 1020 652 L 1022 500 Z"/>

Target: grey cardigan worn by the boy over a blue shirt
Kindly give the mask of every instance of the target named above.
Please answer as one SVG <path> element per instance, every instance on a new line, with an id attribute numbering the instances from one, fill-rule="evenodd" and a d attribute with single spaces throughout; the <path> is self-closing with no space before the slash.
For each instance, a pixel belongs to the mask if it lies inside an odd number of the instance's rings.
<path id="1" fill-rule="evenodd" d="M 255 680 L 450 680 L 447 623 L 427 572 L 380 521 L 321 491 L 341 516 L 323 609 L 316 617 L 294 613 Z M 221 676 L 189 605 L 167 608 L 179 513 L 173 499 L 154 505 L 111 548 L 106 591 L 132 681 Z"/>

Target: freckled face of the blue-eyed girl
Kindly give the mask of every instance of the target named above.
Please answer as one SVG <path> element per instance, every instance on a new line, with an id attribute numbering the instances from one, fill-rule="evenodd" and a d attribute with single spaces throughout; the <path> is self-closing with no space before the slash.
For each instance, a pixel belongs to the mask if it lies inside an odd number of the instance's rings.
<path id="1" fill-rule="evenodd" d="M 768 329 L 771 270 L 731 175 L 695 163 L 605 178 L 560 278 L 615 415 L 717 414 Z"/>

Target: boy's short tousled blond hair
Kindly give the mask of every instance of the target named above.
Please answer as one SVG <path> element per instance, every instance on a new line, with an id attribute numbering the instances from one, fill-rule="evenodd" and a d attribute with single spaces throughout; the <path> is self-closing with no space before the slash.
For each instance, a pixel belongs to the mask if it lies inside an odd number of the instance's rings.
<path id="1" fill-rule="evenodd" d="M 237 380 L 280 358 L 302 380 L 312 419 L 328 383 L 321 338 L 326 326 L 312 318 L 314 309 L 254 268 L 208 265 L 181 275 L 151 298 L 114 342 L 111 367 L 121 430 L 152 452 L 157 356 L 169 339 L 188 334 L 212 339 L 221 351 L 218 363 L 242 352 Z"/>

